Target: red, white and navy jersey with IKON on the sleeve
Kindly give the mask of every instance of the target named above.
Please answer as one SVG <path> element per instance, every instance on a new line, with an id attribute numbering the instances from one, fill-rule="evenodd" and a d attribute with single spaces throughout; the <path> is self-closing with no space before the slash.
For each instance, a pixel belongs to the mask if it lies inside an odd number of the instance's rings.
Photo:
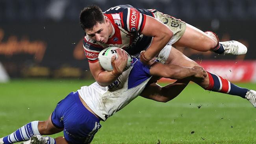
<path id="1" fill-rule="evenodd" d="M 147 48 L 152 37 L 147 37 L 140 32 L 145 26 L 145 15 L 154 17 L 155 11 L 153 9 L 137 9 L 130 5 L 119 5 L 105 11 L 104 15 L 108 17 L 112 25 L 113 34 L 106 44 L 97 42 L 85 35 L 83 48 L 89 62 L 97 62 L 100 51 L 109 46 L 122 48 L 130 55 L 138 54 Z"/>

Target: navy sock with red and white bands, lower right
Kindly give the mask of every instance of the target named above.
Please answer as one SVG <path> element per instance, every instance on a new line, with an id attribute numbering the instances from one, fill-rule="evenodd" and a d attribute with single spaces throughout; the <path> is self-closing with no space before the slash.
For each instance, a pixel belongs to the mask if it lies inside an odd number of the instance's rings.
<path id="1" fill-rule="evenodd" d="M 206 88 L 206 90 L 211 90 L 214 92 L 221 92 L 226 93 L 230 95 L 240 96 L 242 98 L 245 98 L 246 93 L 249 89 L 241 88 L 233 83 L 230 83 L 230 81 L 222 78 L 221 76 L 211 74 L 210 72 L 207 72 L 209 76 L 209 86 Z"/>

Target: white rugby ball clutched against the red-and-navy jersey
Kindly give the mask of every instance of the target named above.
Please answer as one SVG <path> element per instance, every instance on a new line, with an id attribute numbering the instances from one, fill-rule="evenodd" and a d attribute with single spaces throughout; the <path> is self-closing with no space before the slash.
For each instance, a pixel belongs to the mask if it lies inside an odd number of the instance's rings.
<path id="1" fill-rule="evenodd" d="M 113 55 L 115 55 L 116 59 L 117 59 L 118 56 L 117 56 L 116 49 L 117 49 L 117 47 L 111 46 L 111 47 L 108 47 L 108 48 L 105 48 L 104 50 L 102 50 L 100 52 L 100 54 L 98 55 L 98 61 L 100 63 L 100 66 L 104 70 L 107 70 L 109 72 L 113 70 L 113 66 L 111 65 L 111 57 Z M 130 68 L 131 64 L 132 64 L 132 57 L 128 54 L 128 61 L 127 61 L 126 67 L 124 68 L 124 71 L 128 70 L 128 68 Z"/>

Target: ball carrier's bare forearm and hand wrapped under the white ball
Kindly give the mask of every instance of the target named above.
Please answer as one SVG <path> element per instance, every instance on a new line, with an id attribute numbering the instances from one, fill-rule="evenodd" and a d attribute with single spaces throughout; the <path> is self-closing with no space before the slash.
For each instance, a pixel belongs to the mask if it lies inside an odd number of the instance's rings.
<path id="1" fill-rule="evenodd" d="M 115 59 L 115 56 L 111 59 L 113 66 L 111 72 L 105 71 L 98 62 L 89 63 L 91 73 L 100 86 L 106 87 L 112 84 L 122 74 L 127 64 L 128 55 L 121 50 L 117 50 L 117 55 L 117 59 Z"/>

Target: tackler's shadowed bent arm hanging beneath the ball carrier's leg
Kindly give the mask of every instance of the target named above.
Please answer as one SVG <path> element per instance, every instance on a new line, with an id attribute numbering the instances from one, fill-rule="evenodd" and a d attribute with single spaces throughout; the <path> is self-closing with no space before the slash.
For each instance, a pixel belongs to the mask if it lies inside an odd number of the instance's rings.
<path id="1" fill-rule="evenodd" d="M 168 102 L 178 96 L 187 86 L 189 80 L 180 79 L 174 83 L 161 87 L 157 83 L 151 83 L 145 87 L 140 96 L 157 102 Z"/>

